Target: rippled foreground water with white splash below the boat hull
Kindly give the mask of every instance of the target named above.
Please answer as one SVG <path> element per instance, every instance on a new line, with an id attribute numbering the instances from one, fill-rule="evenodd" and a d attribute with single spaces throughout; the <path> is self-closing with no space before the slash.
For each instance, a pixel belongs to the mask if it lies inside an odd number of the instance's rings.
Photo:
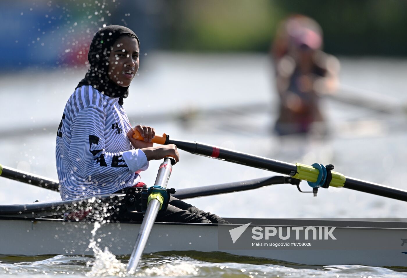
<path id="1" fill-rule="evenodd" d="M 86 256 L 0 257 L 0 277 L 407 277 L 405 269 L 362 265 L 298 265 L 221 252 L 162 252 L 143 256 L 140 270 L 127 274 L 126 258 Z"/>

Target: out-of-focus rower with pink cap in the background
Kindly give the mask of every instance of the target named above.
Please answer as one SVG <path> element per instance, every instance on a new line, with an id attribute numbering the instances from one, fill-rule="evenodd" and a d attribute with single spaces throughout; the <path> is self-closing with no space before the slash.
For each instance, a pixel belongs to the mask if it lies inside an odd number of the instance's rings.
<path id="1" fill-rule="evenodd" d="M 280 23 L 271 55 L 280 97 L 275 131 L 325 135 L 319 99 L 335 91 L 339 61 L 322 52 L 321 26 L 304 15 L 288 17 Z"/>

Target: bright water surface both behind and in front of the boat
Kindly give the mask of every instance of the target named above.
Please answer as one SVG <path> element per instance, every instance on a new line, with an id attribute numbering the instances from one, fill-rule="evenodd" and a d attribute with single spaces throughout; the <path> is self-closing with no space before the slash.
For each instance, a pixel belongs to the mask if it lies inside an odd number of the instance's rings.
<path id="1" fill-rule="evenodd" d="M 324 101 L 328 139 L 277 138 L 270 133 L 276 117 L 276 95 L 269 62 L 263 55 L 216 56 L 149 54 L 131 85 L 125 109 L 132 124 L 149 124 L 176 139 L 196 140 L 287 162 L 332 163 L 335 170 L 363 180 L 407 189 L 407 117 Z M 405 103 L 407 61 L 340 59 L 341 83 L 374 91 L 383 101 Z M 242 76 L 241 63 L 245 64 Z M 55 133 L 66 100 L 84 71 L 30 72 L 19 77 L 20 91 L 2 96 L 0 163 L 57 178 Z M 204 77 L 203 77 L 204 76 Z M 14 78 L 14 79 L 13 79 Z M 15 91 L 14 76 L 0 76 L 2 89 Z M 44 80 L 47 80 L 46 82 Z M 238 105 L 260 105 L 237 109 Z M 142 105 L 141 105 L 142 104 Z M 227 109 L 227 107 L 232 107 Z M 256 106 L 257 107 L 257 106 Z M 4 113 L 6 111 L 7 113 Z M 169 111 L 163 117 L 162 111 Z M 180 117 L 177 111 L 183 111 Z M 197 113 L 197 111 L 206 111 Z M 195 114 L 196 115 L 195 115 Z M 195 117 L 194 117 L 195 115 Z M 155 179 L 160 162 L 142 174 Z M 181 152 L 168 186 L 186 188 L 246 180 L 275 173 L 210 160 Z M 301 187 L 308 190 L 306 183 Z M 0 204 L 60 200 L 56 192 L 0 179 Z M 223 217 L 263 218 L 405 218 L 405 202 L 349 189 L 320 190 L 318 197 L 291 185 L 274 185 L 189 201 Z M 1 235 L 0 235 L 1 236 Z M 136 232 L 135 232 L 136 238 Z M 216 240 L 216 239 L 215 239 Z M 406 250 L 407 251 L 407 250 Z M 108 250 L 94 257 L 50 255 L 0 257 L 0 277 L 55 275 L 132 276 L 128 258 Z M 1 253 L 1 246 L 0 246 Z M 407 259 L 407 255 L 406 255 Z M 310 266 L 233 256 L 225 253 L 166 252 L 143 257 L 140 277 L 407 277 L 406 269 L 360 265 Z"/>

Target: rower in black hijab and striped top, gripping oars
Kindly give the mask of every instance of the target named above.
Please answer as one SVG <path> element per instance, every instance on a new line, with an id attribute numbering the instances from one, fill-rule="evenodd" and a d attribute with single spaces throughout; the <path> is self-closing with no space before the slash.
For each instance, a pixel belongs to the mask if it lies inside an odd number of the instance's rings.
<path id="1" fill-rule="evenodd" d="M 131 128 L 123 98 L 139 67 L 140 41 L 123 26 L 107 26 L 92 39 L 90 69 L 66 103 L 57 132 L 56 162 L 62 200 L 123 192 L 138 185 L 150 160 L 172 156 L 175 145 L 153 147 L 155 131 Z M 138 130 L 144 141 L 133 139 Z M 171 196 L 157 221 L 228 223 Z"/>

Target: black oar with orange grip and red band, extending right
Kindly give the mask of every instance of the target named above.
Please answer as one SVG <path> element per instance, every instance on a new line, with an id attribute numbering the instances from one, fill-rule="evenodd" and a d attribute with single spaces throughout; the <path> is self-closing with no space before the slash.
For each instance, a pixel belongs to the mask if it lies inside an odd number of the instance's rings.
<path id="1" fill-rule="evenodd" d="M 136 139 L 142 139 L 138 131 L 134 132 L 133 137 Z M 199 154 L 214 159 L 220 159 L 250 167 L 265 169 L 280 174 L 286 174 L 292 176 L 293 178 L 306 180 L 308 182 L 317 183 L 319 185 L 321 180 L 323 180 L 324 178 L 326 179 L 326 176 L 324 177 L 324 175 L 322 174 L 323 171 L 321 171 L 321 174 L 319 174 L 320 171 L 318 167 L 300 163 L 287 163 L 262 156 L 245 154 L 243 152 L 237 152 L 234 150 L 223 149 L 217 146 L 198 143 L 196 141 L 173 140 L 170 139 L 169 136 L 165 133 L 163 135 L 155 135 L 153 142 L 163 145 L 175 144 L 177 148 L 186 152 L 190 152 L 191 154 Z M 407 201 L 407 191 L 405 190 L 396 189 L 385 185 L 379 185 L 377 183 L 364 180 L 358 180 L 355 178 L 345 177 L 338 172 L 332 171 L 332 180 L 328 185 L 333 187 L 345 187 L 348 189 L 371 193 L 387 198 Z"/>

